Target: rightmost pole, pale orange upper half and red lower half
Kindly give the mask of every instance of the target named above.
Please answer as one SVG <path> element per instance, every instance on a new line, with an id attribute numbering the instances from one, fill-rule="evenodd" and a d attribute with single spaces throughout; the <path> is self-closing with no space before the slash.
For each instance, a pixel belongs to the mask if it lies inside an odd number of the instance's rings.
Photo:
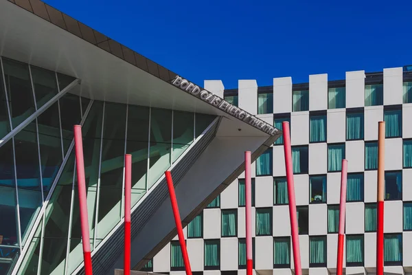
<path id="1" fill-rule="evenodd" d="M 383 275 L 383 201 L 385 193 L 385 122 L 378 122 L 378 219 L 376 226 L 376 275 Z"/>

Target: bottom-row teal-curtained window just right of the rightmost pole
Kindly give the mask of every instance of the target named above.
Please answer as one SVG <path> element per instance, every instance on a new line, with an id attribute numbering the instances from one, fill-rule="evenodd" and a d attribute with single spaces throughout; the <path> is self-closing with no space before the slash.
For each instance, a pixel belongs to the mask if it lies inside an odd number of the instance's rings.
<path id="1" fill-rule="evenodd" d="M 384 234 L 383 249 L 385 265 L 402 265 L 402 234 Z"/>

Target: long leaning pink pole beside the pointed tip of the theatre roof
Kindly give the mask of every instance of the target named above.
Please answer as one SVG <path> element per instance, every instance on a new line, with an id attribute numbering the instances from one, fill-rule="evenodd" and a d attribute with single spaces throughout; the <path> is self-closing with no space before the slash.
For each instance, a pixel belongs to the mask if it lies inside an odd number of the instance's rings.
<path id="1" fill-rule="evenodd" d="M 290 229 L 292 232 L 292 248 L 293 248 L 293 260 L 295 263 L 295 275 L 302 275 L 301 259 L 300 259 L 300 251 L 299 251 L 299 231 L 297 229 L 295 184 L 293 182 L 292 148 L 290 147 L 289 122 L 286 122 L 286 121 L 282 122 L 282 130 L 283 130 L 283 137 L 284 137 L 286 180 L 288 181 L 289 216 L 290 216 Z"/>

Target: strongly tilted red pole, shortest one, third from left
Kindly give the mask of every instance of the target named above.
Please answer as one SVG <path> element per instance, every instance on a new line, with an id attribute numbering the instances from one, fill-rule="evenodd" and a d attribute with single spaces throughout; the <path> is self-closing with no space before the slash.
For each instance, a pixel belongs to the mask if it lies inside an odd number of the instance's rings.
<path id="1" fill-rule="evenodd" d="M 177 206 L 176 193 L 172 181 L 170 171 L 165 171 L 166 181 L 168 182 L 168 189 L 170 201 L 172 202 L 172 210 L 174 222 L 176 223 L 177 236 L 179 236 L 179 243 L 181 245 L 183 263 L 185 264 L 186 275 L 192 275 L 192 268 L 190 267 L 189 256 L 187 255 L 185 236 L 183 235 L 182 222 L 179 214 L 179 207 Z"/>

